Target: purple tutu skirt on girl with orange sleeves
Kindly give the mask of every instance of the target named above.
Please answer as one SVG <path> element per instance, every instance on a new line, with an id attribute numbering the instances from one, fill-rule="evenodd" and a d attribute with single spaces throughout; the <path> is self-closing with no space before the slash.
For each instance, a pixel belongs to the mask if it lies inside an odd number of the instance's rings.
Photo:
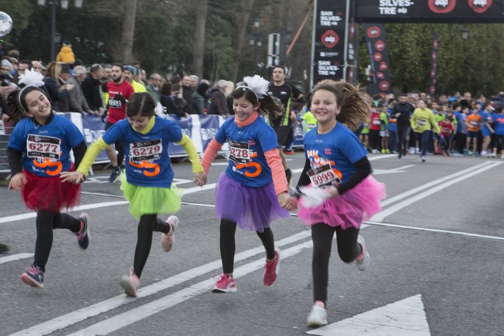
<path id="1" fill-rule="evenodd" d="M 264 232 L 270 223 L 290 217 L 280 207 L 273 183 L 248 188 L 222 173 L 215 189 L 215 214 L 218 219 L 235 222 L 248 231 Z"/>

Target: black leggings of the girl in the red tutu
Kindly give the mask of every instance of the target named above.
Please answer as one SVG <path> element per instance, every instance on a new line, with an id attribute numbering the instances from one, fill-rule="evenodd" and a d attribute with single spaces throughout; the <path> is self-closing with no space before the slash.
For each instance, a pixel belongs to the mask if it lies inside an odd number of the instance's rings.
<path id="1" fill-rule="evenodd" d="M 47 210 L 39 210 L 35 220 L 37 227 L 37 240 L 35 241 L 35 260 L 33 264 L 45 272 L 45 264 L 49 259 L 52 247 L 52 230 L 68 229 L 73 233 L 81 230 L 81 220 L 69 214 L 54 213 Z"/>

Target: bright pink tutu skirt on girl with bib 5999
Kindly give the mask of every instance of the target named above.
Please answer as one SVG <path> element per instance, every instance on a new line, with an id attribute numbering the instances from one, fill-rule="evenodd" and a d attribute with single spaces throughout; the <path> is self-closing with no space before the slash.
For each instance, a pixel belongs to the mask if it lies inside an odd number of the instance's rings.
<path id="1" fill-rule="evenodd" d="M 385 184 L 378 182 L 372 176 L 367 176 L 362 182 L 339 197 L 326 200 L 321 206 L 306 208 L 299 201 L 297 216 L 305 225 L 325 223 L 329 226 L 350 226 L 360 228 L 382 210 L 380 201 L 387 196 Z"/>

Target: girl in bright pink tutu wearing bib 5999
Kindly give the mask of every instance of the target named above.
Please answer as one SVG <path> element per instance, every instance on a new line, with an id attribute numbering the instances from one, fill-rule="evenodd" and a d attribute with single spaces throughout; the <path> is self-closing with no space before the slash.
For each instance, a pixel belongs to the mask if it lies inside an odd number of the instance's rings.
<path id="1" fill-rule="evenodd" d="M 367 151 L 353 133 L 368 118 L 369 100 L 345 81 L 324 80 L 312 91 L 311 111 L 318 126 L 304 137 L 306 163 L 298 182 L 301 197 L 297 212 L 301 221 L 311 226 L 313 240 L 314 305 L 306 320 L 308 326 L 327 324 L 328 265 L 334 232 L 341 260 L 355 261 L 360 271 L 369 265 L 359 228 L 381 210 L 380 200 L 386 196 L 385 185 L 370 176 Z"/>

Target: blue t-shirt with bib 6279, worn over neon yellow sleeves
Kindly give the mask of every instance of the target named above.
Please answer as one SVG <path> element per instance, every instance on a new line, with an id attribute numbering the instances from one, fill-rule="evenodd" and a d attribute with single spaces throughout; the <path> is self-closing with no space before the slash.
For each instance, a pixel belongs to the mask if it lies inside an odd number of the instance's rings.
<path id="1" fill-rule="evenodd" d="M 117 121 L 103 135 L 103 141 L 122 143 L 128 183 L 145 187 L 170 188 L 173 169 L 168 144 L 182 140 L 182 130 L 171 120 L 154 116 L 154 126 L 147 134 L 133 129 L 129 119 Z"/>

